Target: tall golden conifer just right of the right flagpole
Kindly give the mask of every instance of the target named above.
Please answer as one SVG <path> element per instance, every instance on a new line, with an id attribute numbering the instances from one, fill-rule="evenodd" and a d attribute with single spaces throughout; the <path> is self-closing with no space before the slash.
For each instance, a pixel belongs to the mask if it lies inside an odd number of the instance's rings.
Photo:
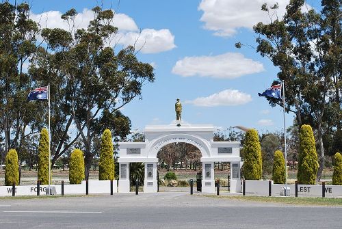
<path id="1" fill-rule="evenodd" d="M 315 185 L 318 161 L 313 137 L 313 129 L 310 125 L 300 127 L 300 150 L 298 154 L 297 180 L 301 185 Z"/>

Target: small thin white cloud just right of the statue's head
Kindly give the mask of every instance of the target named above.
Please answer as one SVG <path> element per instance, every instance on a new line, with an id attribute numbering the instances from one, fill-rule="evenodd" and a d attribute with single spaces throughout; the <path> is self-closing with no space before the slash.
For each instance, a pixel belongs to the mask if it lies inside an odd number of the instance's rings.
<path id="1" fill-rule="evenodd" d="M 218 106 L 237 106 L 244 105 L 252 101 L 252 96 L 238 90 L 224 90 L 207 97 L 199 97 L 194 100 L 187 100 L 198 107 L 218 107 Z"/>

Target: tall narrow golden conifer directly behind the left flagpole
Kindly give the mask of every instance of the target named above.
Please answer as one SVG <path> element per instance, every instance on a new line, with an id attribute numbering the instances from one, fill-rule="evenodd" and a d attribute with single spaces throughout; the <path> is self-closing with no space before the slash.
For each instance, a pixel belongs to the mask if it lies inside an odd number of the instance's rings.
<path id="1" fill-rule="evenodd" d="M 40 131 L 38 157 L 38 180 L 42 185 L 49 185 L 49 133 L 47 129 Z"/>

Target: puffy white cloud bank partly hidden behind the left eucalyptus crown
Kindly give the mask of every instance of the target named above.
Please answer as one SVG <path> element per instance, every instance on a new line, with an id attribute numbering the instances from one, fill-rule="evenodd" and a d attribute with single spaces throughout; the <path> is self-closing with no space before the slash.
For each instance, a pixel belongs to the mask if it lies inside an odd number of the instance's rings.
<path id="1" fill-rule="evenodd" d="M 40 23 L 42 28 L 61 28 L 68 31 L 72 29 L 73 25 L 63 21 L 61 16 L 62 12 L 59 11 L 42 12 L 42 14 L 31 13 L 32 20 Z M 92 10 L 84 9 L 75 16 L 75 28 L 86 29 L 93 19 Z M 119 31 L 112 45 L 129 46 L 135 44 L 135 48 L 140 49 L 142 53 L 160 53 L 176 47 L 174 36 L 169 29 L 142 29 L 140 31 L 133 18 L 126 14 L 114 14 L 112 25 L 118 27 Z"/>

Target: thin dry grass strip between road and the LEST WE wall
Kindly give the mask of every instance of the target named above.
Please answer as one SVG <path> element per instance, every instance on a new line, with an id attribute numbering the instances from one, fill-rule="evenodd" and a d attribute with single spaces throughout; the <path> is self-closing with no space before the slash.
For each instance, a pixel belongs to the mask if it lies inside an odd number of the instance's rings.
<path id="1" fill-rule="evenodd" d="M 295 198 L 295 197 L 269 197 L 269 196 L 214 196 L 205 195 L 210 198 L 220 198 L 228 200 L 272 202 L 281 204 L 296 205 L 319 205 L 319 206 L 342 206 L 342 198 Z"/>

